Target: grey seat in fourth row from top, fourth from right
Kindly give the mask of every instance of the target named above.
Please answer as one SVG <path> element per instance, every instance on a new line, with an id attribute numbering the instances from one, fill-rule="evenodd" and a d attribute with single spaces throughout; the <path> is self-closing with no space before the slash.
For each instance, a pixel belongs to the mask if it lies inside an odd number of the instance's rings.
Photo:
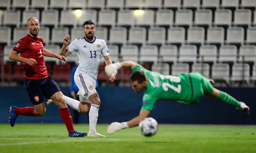
<path id="1" fill-rule="evenodd" d="M 180 46 L 179 62 L 196 62 L 197 47 L 196 45 Z"/>

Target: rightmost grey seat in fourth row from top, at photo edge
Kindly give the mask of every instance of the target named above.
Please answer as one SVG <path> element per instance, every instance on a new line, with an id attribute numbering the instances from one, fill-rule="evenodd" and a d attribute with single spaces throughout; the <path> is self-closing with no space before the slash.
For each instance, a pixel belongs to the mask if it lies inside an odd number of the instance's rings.
<path id="1" fill-rule="evenodd" d="M 242 62 L 243 61 L 242 56 L 244 56 L 245 62 L 256 63 L 256 46 L 255 45 L 242 45 L 239 51 L 240 51 L 239 61 Z"/>

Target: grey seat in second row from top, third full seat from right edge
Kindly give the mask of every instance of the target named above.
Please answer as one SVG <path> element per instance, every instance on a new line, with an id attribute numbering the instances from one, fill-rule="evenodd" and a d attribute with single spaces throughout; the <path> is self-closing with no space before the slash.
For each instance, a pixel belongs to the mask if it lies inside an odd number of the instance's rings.
<path id="1" fill-rule="evenodd" d="M 195 25 L 212 25 L 212 10 L 196 10 Z"/>

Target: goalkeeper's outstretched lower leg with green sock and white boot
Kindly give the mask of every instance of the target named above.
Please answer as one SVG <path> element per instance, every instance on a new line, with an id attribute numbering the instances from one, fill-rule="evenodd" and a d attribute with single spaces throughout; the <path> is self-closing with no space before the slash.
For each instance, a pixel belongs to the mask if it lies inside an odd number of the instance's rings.
<path id="1" fill-rule="evenodd" d="M 236 98 L 230 96 L 228 93 L 220 91 L 216 88 L 213 88 L 212 93 L 207 96 L 215 99 L 220 99 L 225 104 L 235 106 L 237 109 L 242 110 L 244 112 L 249 112 L 250 108 L 245 105 L 244 102 L 239 102 Z"/>

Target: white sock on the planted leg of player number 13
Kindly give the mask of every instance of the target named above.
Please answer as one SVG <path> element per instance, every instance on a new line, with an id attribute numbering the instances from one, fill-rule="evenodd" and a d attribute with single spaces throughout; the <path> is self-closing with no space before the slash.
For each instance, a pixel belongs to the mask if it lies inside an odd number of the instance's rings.
<path id="1" fill-rule="evenodd" d="M 90 127 L 89 133 L 93 133 L 96 131 L 99 108 L 100 108 L 100 105 L 91 104 L 91 108 L 89 111 L 89 127 Z"/>

